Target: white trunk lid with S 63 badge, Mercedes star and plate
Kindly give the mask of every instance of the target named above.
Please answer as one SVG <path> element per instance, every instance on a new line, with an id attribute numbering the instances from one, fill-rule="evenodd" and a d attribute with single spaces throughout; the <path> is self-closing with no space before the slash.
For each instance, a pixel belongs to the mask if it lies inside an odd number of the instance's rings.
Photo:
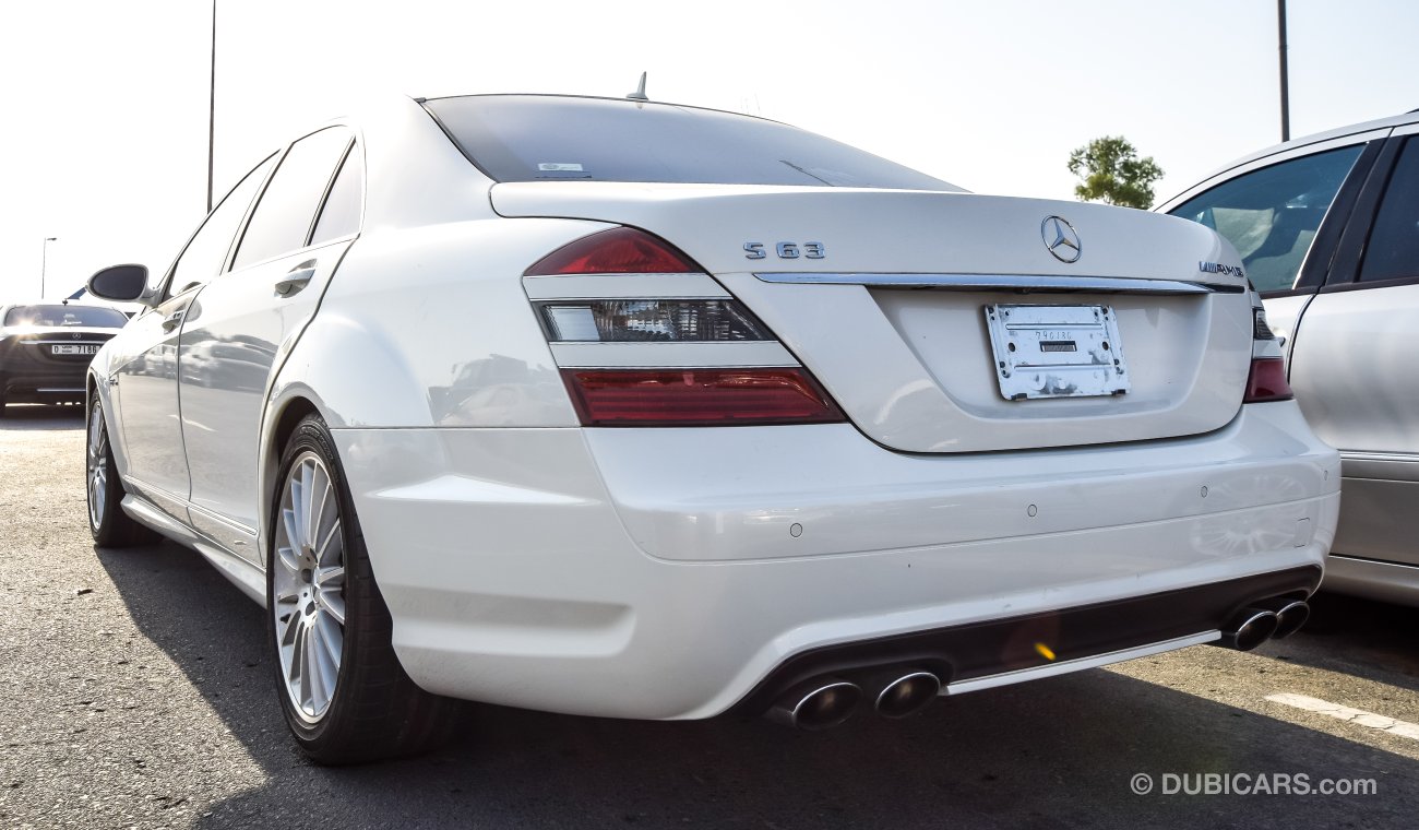
<path id="1" fill-rule="evenodd" d="M 502 216 L 640 227 L 680 247 L 893 450 L 1188 436 L 1225 426 L 1242 403 L 1244 277 L 1235 251 L 1193 223 L 822 187 L 504 183 L 492 203 Z"/>

